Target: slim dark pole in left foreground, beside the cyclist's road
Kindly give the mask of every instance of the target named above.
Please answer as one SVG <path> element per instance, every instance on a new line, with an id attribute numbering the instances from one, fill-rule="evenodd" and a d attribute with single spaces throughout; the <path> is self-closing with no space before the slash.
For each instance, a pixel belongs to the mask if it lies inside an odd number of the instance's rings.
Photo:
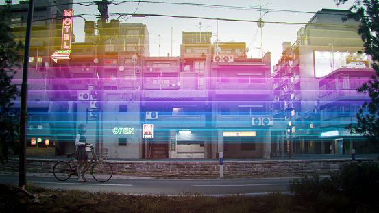
<path id="1" fill-rule="evenodd" d="M 25 34 L 25 52 L 23 62 L 23 82 L 21 83 L 20 108 L 20 153 L 19 153 L 19 186 L 26 184 L 26 116 L 27 116 L 27 71 L 29 69 L 30 35 L 32 34 L 32 19 L 34 0 L 29 1 Z"/>

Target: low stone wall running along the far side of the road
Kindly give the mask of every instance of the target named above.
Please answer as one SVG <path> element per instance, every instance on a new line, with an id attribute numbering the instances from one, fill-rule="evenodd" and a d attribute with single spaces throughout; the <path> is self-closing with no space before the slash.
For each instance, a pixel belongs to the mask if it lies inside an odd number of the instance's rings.
<path id="1" fill-rule="evenodd" d="M 52 174 L 53 166 L 58 160 L 27 159 L 27 173 Z M 375 158 L 359 159 L 374 161 Z M 145 176 L 160 178 L 217 178 L 219 162 L 164 162 L 164 161 L 108 161 L 114 175 Z M 233 161 L 223 164 L 224 178 L 253 177 L 299 177 L 303 174 L 331 175 L 337 173 L 341 165 L 350 164 L 352 160 L 272 160 L 272 161 Z M 1 173 L 18 173 L 19 159 L 10 158 L 0 163 Z"/>

